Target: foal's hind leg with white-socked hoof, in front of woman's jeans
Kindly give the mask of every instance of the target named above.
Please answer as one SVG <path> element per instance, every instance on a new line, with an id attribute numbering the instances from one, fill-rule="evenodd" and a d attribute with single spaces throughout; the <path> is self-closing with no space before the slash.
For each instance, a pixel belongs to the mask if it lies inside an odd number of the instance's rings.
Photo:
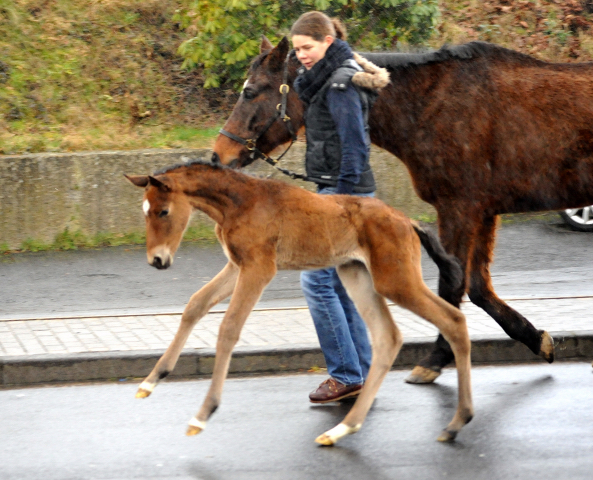
<path id="1" fill-rule="evenodd" d="M 315 440 L 322 445 L 333 445 L 340 438 L 360 429 L 402 345 L 399 329 L 391 318 L 385 299 L 375 292 L 366 267 L 362 263 L 353 262 L 341 265 L 337 270 L 348 295 L 369 327 L 373 342 L 373 359 L 364 387 L 348 415 L 339 425 Z"/>

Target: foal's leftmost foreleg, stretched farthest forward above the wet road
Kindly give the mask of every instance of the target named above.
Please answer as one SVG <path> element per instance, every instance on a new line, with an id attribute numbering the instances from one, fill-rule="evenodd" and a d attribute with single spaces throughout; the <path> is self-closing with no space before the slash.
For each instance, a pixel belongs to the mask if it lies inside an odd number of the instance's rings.
<path id="1" fill-rule="evenodd" d="M 229 262 L 218 275 L 216 275 L 216 277 L 192 295 L 183 311 L 181 323 L 179 324 L 179 328 L 173 341 L 163 356 L 159 359 L 152 372 L 150 372 L 148 377 L 146 377 L 140 384 L 140 388 L 136 393 L 136 398 L 148 397 L 159 380 L 171 373 L 173 368 L 175 368 L 175 364 L 179 359 L 183 346 L 185 345 L 185 342 L 187 342 L 187 338 L 196 323 L 198 323 L 198 321 L 206 315 L 214 305 L 224 300 L 233 292 L 238 273 L 238 267 Z"/>

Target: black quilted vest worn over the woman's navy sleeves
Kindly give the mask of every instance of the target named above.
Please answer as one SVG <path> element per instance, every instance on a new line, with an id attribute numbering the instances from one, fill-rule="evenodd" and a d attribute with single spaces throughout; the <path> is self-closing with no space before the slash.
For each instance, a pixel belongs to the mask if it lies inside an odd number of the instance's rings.
<path id="1" fill-rule="evenodd" d="M 362 69 L 354 60 L 346 60 L 336 69 L 326 84 L 313 96 L 305 112 L 307 154 L 305 170 L 307 176 L 319 187 L 336 186 L 342 163 L 342 144 L 336 125 L 327 105 L 327 91 L 330 88 L 345 90 L 351 83 L 352 76 Z M 360 175 L 360 181 L 354 186 L 355 193 L 375 191 L 375 179 L 369 164 L 370 137 L 368 117 L 372 102 L 377 94 L 353 84 L 362 104 L 364 117 L 367 155 Z"/>

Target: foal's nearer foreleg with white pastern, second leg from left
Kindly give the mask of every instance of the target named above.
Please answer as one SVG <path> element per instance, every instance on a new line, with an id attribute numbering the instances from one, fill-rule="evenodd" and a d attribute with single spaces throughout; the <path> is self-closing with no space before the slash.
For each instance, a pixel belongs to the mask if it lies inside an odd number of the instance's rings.
<path id="1" fill-rule="evenodd" d="M 274 263 L 260 263 L 251 267 L 241 267 L 229 308 L 220 324 L 212 383 L 202 408 L 189 422 L 187 435 L 196 435 L 204 430 L 206 422 L 220 405 L 222 387 L 229 370 L 233 348 L 239 340 L 241 330 L 249 313 L 253 310 L 264 288 L 274 278 L 275 274 L 276 267 Z"/>

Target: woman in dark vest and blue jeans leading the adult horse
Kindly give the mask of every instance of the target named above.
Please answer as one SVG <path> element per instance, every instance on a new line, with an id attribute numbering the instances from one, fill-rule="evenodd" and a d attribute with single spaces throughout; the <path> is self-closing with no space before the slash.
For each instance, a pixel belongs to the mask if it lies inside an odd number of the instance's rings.
<path id="1" fill-rule="evenodd" d="M 369 165 L 367 119 L 376 92 L 356 82 L 367 75 L 368 87 L 368 73 L 354 60 L 345 41 L 345 28 L 337 19 L 321 12 L 306 13 L 295 22 L 290 35 L 303 65 L 294 87 L 307 107 L 307 176 L 317 183 L 321 194 L 372 196 L 375 180 Z M 370 85 L 386 85 L 387 72 L 370 65 L 374 67 L 370 71 L 381 77 L 372 79 Z M 301 286 L 330 375 L 309 399 L 327 403 L 355 397 L 371 363 L 365 324 L 335 268 L 303 272 Z"/>

